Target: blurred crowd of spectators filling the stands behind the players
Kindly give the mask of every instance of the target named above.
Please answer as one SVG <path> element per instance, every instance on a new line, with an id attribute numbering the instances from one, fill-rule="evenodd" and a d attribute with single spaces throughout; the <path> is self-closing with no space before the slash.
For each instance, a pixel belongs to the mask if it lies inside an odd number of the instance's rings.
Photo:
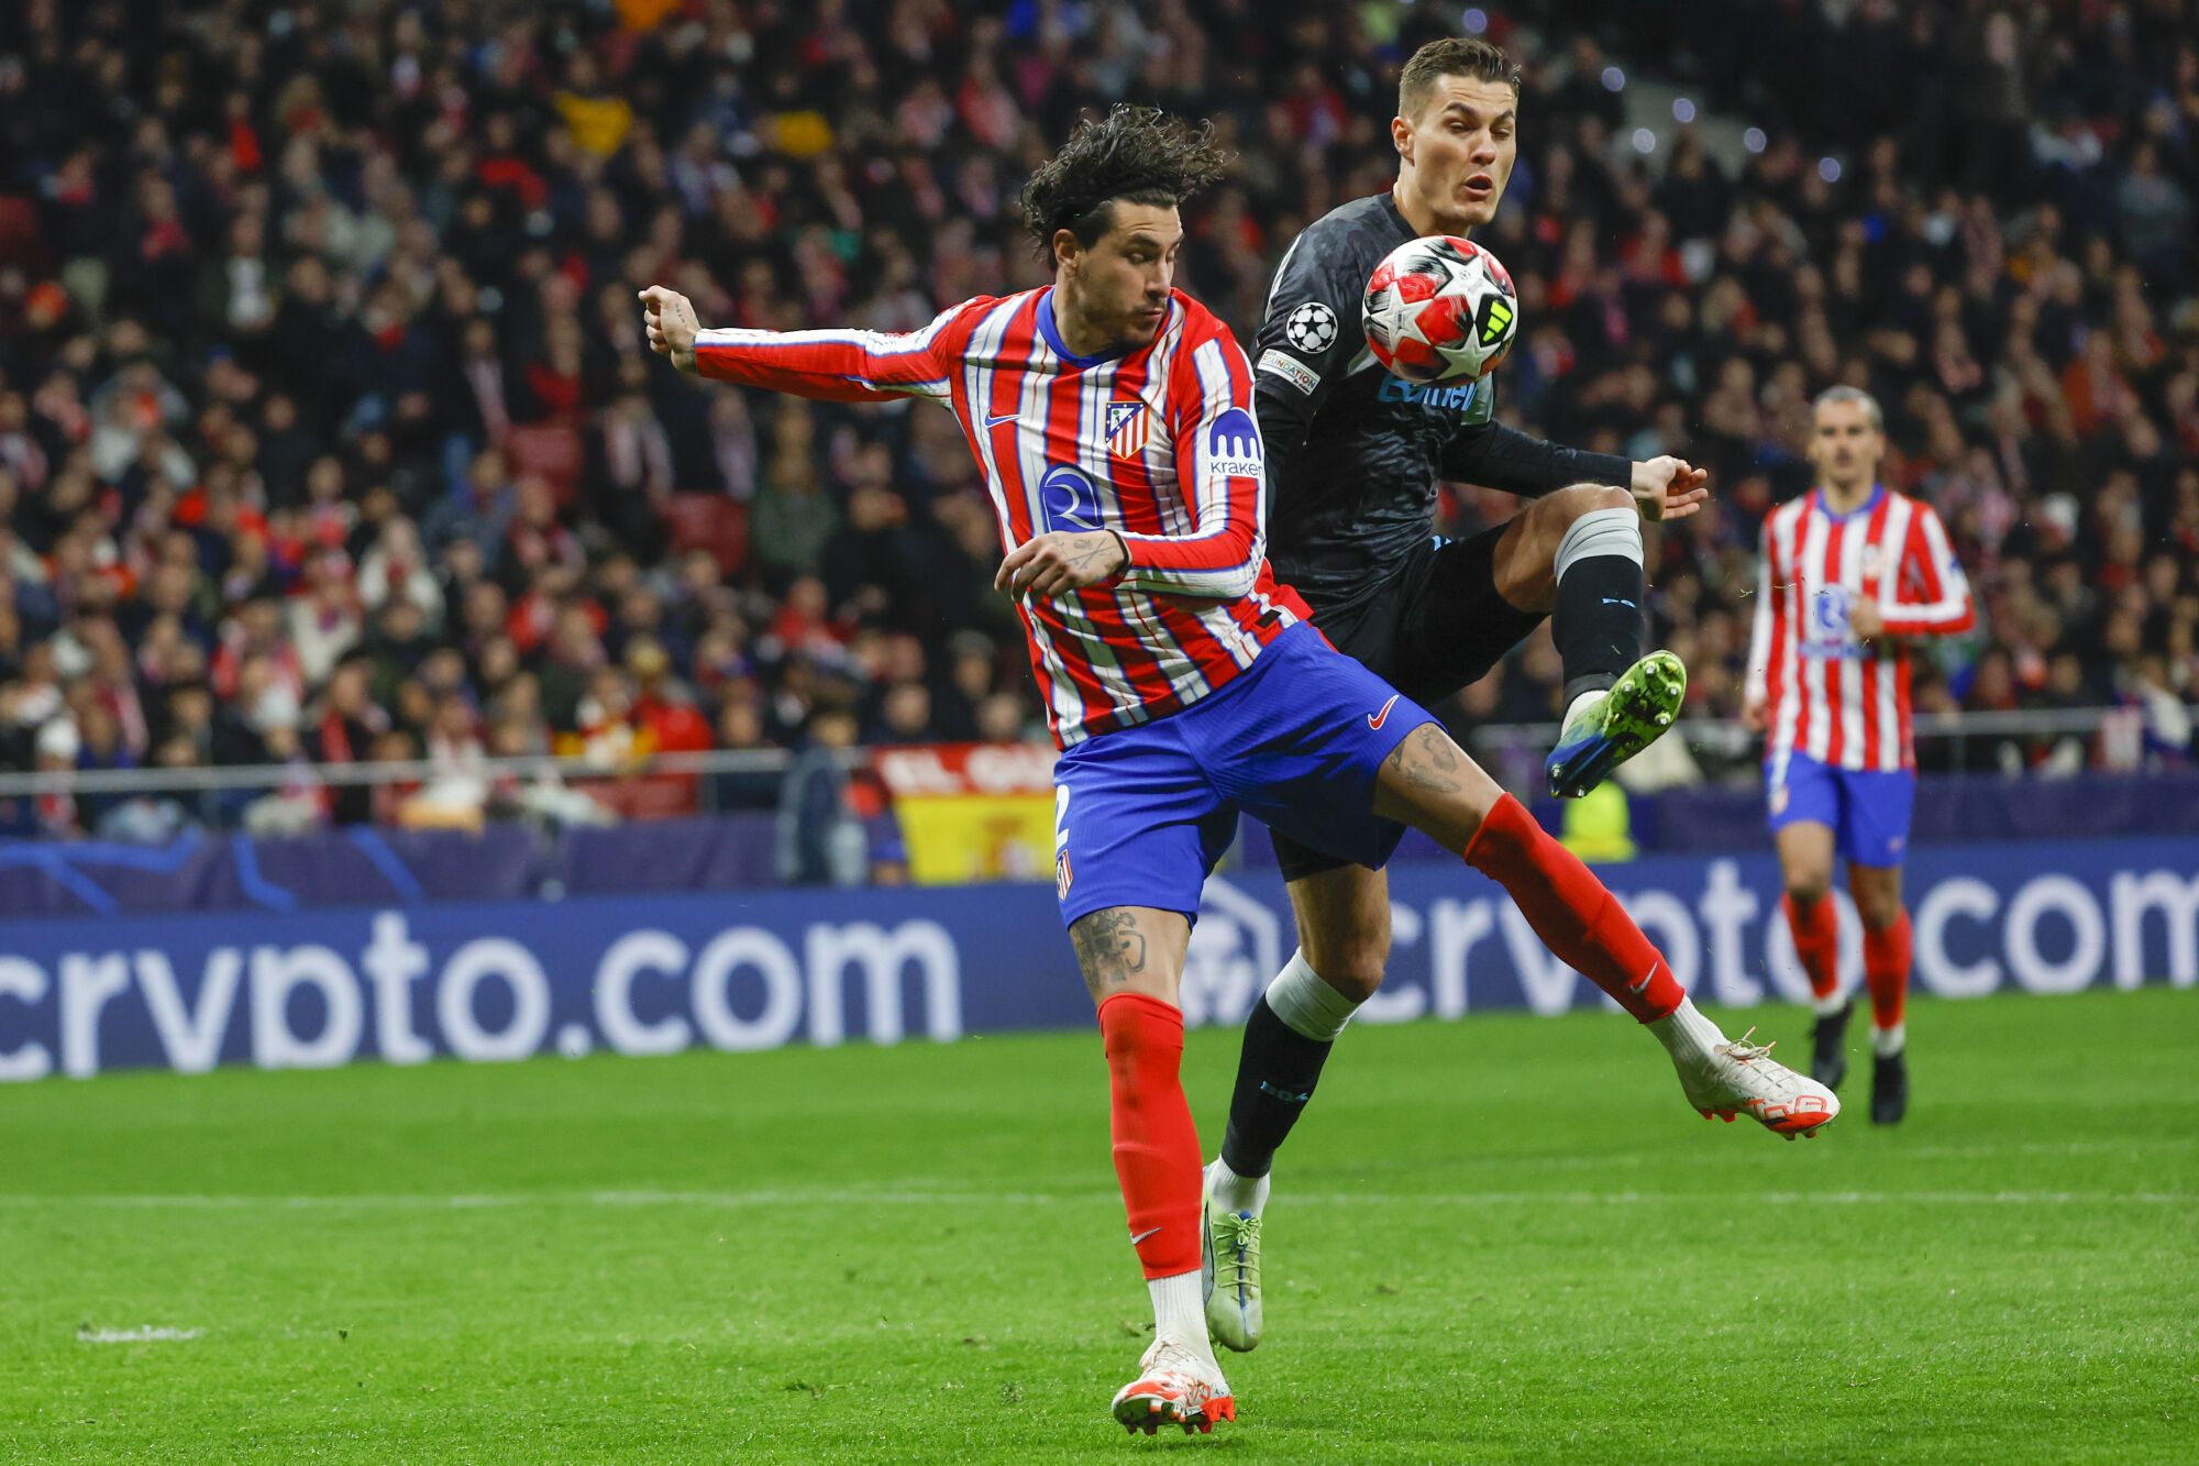
<path id="1" fill-rule="evenodd" d="M 1240 161 L 1181 284 L 1242 339 L 1293 233 L 1394 176 L 1394 66 L 1458 7 L 1251 0 L 22 0 L 0 15 L 0 766 L 297 764 L 224 817 L 589 817 L 488 753 L 1029 737 L 948 414 L 653 363 L 710 324 L 910 328 L 1038 284 L 1016 187 L 1084 108 Z M 1588 24 L 1590 11 L 1610 18 Z M 2151 709 L 2199 682 L 2199 7 L 1517 4 L 1487 240 L 1500 412 L 1713 473 L 1656 632 L 1737 709 L 1810 396 L 1887 407 L 1981 632 L 1920 707 Z M 1746 123 L 1634 130 L 1627 68 Z M 1638 79 L 1634 81 L 1640 84 Z M 1511 513 L 1471 489 L 1456 528 Z M 1537 636 L 1465 720 L 1544 720 Z M 2181 729 L 2181 733 L 2179 733 Z M 310 762 L 431 759 L 418 790 Z M 473 770 L 473 773 L 468 773 Z M 688 788 L 693 795 L 693 788 Z M 732 806 L 776 779 L 732 777 Z M 174 808 L 169 819 L 191 819 Z M 0 801 L 15 834 L 145 828 Z M 156 821 L 158 823 L 158 821 Z"/>

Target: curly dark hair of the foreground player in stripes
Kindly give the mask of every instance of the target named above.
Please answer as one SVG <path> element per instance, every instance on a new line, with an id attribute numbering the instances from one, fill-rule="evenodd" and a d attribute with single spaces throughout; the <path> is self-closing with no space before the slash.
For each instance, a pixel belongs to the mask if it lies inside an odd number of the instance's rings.
<path id="1" fill-rule="evenodd" d="M 1104 119 L 1078 123 L 1062 150 L 1023 185 L 1023 222 L 1040 260 L 1053 262 L 1053 233 L 1091 244 L 1108 229 L 1117 198 L 1176 207 L 1223 176 L 1229 154 L 1214 145 L 1214 123 L 1192 125 L 1159 108 L 1117 103 Z"/>

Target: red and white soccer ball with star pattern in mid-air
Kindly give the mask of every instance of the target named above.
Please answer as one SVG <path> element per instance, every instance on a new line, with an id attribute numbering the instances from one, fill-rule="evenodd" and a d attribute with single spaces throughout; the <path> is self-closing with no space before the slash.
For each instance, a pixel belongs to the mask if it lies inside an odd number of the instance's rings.
<path id="1" fill-rule="evenodd" d="M 1405 381 L 1473 381 L 1511 350 L 1520 295 L 1493 253 L 1451 236 L 1410 240 L 1368 280 L 1368 350 Z"/>

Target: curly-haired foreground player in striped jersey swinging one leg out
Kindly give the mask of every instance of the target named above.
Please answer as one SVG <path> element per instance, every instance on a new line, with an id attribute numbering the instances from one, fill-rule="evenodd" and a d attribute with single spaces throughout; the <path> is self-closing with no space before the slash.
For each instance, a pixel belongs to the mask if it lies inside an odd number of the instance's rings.
<path id="1" fill-rule="evenodd" d="M 996 586 L 1062 746 L 1056 894 L 1100 1013 L 1115 1175 L 1154 1310 L 1152 1347 L 1110 1411 L 1148 1433 L 1236 1418 L 1207 1336 L 1176 995 L 1198 891 L 1240 812 L 1346 861 L 1425 830 L 1665 1043 L 1691 1105 L 1790 1138 L 1838 1114 L 1827 1090 L 1695 1013 L 1610 891 L 1275 583 L 1251 368 L 1172 288 L 1176 205 L 1223 163 L 1209 132 L 1152 110 L 1080 125 L 1023 192 L 1053 284 L 963 302 L 908 335 L 699 330 L 686 297 L 642 293 L 649 343 L 677 368 L 939 403 L 985 473 Z"/>

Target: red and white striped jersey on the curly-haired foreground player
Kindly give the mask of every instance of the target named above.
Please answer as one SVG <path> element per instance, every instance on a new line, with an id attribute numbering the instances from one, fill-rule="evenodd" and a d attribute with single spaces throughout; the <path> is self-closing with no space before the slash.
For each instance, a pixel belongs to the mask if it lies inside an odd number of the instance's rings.
<path id="1" fill-rule="evenodd" d="M 1196 702 L 1308 616 L 1267 568 L 1251 368 L 1181 291 L 1121 357 L 1071 354 L 1042 288 L 968 299 L 906 335 L 704 330 L 695 361 L 800 396 L 950 407 L 1003 553 L 1047 530 L 1121 537 L 1130 559 L 1110 583 L 1016 605 L 1062 748 Z"/>

